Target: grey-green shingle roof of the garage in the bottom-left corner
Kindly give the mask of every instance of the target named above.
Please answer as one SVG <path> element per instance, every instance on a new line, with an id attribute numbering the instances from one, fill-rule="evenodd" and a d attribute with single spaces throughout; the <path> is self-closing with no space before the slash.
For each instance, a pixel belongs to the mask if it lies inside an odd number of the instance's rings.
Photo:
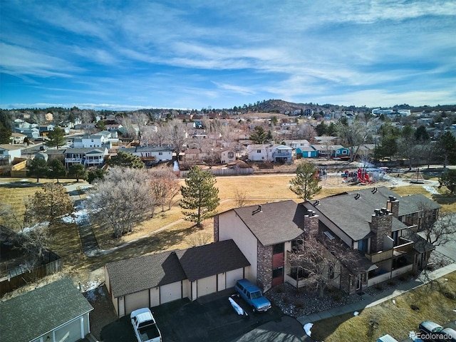
<path id="1" fill-rule="evenodd" d="M 71 279 L 61 279 L 0 303 L 1 342 L 32 341 L 92 311 Z"/>

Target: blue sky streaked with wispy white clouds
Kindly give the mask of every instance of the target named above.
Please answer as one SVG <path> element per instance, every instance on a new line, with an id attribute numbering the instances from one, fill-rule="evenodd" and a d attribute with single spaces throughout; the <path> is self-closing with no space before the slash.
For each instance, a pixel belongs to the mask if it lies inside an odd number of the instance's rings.
<path id="1" fill-rule="evenodd" d="M 456 103 L 456 1 L 0 0 L 0 108 Z"/>

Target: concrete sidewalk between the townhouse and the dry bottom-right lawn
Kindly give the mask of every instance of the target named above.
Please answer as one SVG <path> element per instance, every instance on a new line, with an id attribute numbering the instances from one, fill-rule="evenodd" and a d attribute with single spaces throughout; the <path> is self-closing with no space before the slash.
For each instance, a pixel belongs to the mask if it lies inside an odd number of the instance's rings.
<path id="1" fill-rule="evenodd" d="M 429 279 L 434 280 L 447 274 L 450 274 L 453 271 L 456 271 L 456 263 L 452 263 L 450 265 L 442 267 L 441 269 L 436 269 L 435 271 L 430 272 Z M 365 308 L 375 306 L 377 304 L 383 303 L 384 301 L 388 301 L 397 296 L 400 296 L 401 294 L 404 294 L 407 291 L 415 289 L 418 286 L 421 286 L 425 283 L 427 283 L 427 280 L 425 279 L 414 279 L 412 281 L 408 281 L 407 283 L 400 284 L 397 289 L 390 289 L 375 296 L 363 294 L 363 300 L 358 301 L 356 303 L 338 306 L 333 309 L 320 311 L 316 314 L 311 314 L 307 316 L 301 316 L 296 319 L 299 321 L 299 323 L 304 325 L 309 322 L 314 323 L 316 321 L 321 321 L 322 319 L 353 313 L 355 311 L 361 311 Z"/>

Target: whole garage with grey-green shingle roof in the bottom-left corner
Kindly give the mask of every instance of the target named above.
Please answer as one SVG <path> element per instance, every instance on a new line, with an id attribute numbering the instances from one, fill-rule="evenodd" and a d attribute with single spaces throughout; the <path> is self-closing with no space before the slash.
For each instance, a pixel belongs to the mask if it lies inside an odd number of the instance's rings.
<path id="1" fill-rule="evenodd" d="M 76 342 L 90 333 L 93 310 L 66 278 L 0 302 L 1 342 Z"/>

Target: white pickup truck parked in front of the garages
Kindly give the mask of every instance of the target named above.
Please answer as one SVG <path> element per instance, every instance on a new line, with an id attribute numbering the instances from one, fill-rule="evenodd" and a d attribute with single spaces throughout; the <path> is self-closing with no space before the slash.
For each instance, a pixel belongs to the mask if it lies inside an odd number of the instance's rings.
<path id="1" fill-rule="evenodd" d="M 130 318 L 138 342 L 162 342 L 162 334 L 149 308 L 133 311 Z"/>

